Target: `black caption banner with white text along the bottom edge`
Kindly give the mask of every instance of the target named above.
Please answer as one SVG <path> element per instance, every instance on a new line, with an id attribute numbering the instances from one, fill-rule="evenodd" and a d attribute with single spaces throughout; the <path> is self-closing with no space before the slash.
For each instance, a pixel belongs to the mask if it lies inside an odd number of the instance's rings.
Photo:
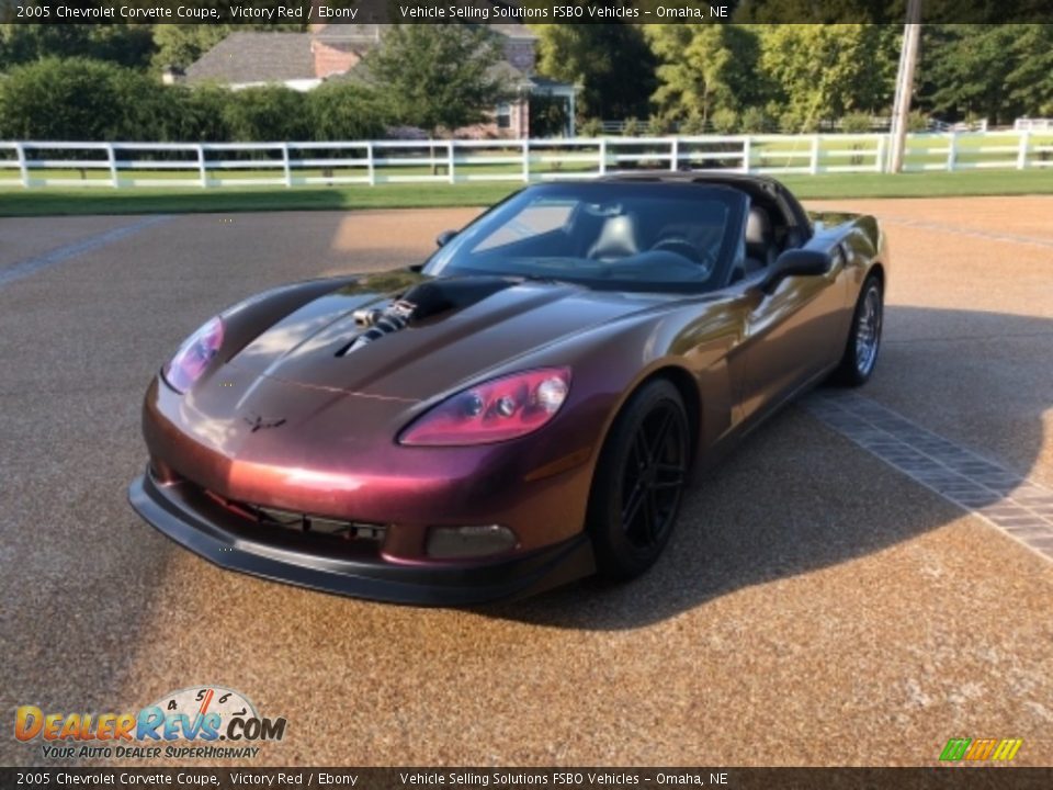
<path id="1" fill-rule="evenodd" d="M 0 768 L 3 790 L 67 788 L 721 788 L 1049 790 L 1053 768 Z"/>

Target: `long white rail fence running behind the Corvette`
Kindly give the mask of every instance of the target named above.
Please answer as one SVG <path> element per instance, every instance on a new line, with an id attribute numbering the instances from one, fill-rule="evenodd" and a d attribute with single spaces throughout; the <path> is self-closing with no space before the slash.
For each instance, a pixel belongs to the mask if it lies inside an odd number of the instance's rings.
<path id="1" fill-rule="evenodd" d="M 346 143 L 0 142 L 7 187 L 295 187 L 531 182 L 632 169 L 883 172 L 887 135 L 705 135 Z M 908 135 L 904 170 L 1053 166 L 1049 132 Z"/>

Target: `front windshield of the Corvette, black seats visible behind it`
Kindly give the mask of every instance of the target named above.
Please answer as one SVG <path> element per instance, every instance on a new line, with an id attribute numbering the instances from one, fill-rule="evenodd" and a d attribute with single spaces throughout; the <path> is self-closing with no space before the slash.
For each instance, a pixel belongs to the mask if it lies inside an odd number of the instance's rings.
<path id="1" fill-rule="evenodd" d="M 454 236 L 424 272 L 621 291 L 712 291 L 740 251 L 746 205 L 736 190 L 691 183 L 531 187 Z"/>

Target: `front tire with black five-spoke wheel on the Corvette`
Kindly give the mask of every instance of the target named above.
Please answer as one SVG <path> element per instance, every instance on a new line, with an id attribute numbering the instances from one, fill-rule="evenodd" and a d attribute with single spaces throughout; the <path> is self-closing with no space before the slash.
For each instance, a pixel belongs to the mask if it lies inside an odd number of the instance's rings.
<path id="1" fill-rule="evenodd" d="M 689 425 L 680 393 L 660 379 L 644 384 L 615 418 L 587 516 L 603 578 L 639 576 L 669 542 L 687 483 Z"/>

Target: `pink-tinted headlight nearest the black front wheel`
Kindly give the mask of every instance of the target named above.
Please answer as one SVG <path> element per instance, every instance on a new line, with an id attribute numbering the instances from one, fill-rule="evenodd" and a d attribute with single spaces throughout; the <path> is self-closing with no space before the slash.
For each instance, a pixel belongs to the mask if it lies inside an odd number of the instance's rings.
<path id="1" fill-rule="evenodd" d="M 458 392 L 403 431 L 400 444 L 489 444 L 548 422 L 567 399 L 569 368 L 541 368 L 492 379 Z"/>

